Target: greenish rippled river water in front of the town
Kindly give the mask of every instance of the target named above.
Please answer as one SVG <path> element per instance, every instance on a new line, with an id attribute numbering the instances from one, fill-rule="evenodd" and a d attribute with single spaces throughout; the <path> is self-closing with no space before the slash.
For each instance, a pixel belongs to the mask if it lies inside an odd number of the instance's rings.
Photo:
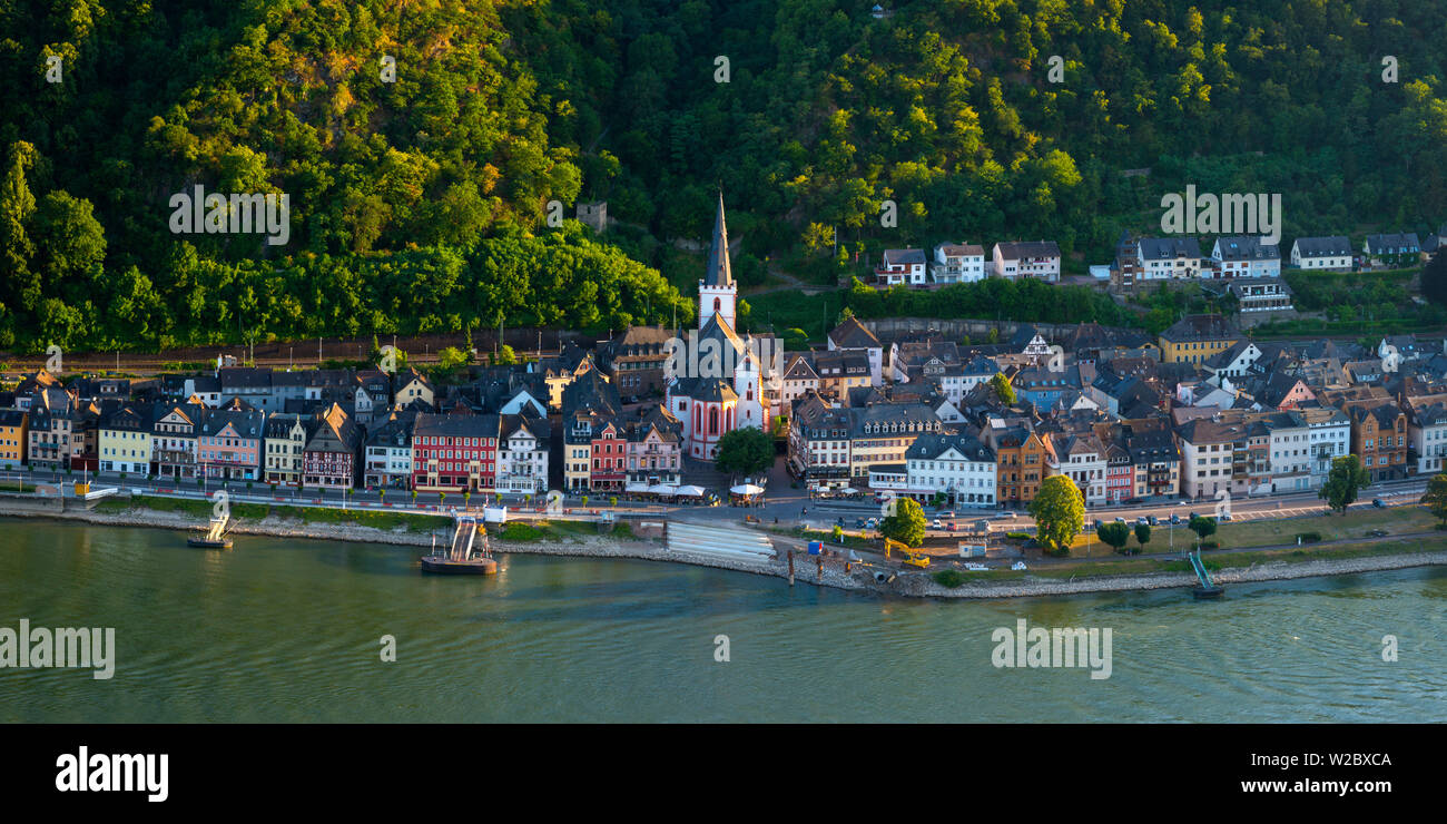
<path id="1" fill-rule="evenodd" d="M 0 721 L 1447 721 L 1441 568 L 936 602 L 616 559 L 436 578 L 420 553 L 0 518 L 0 627 L 116 628 L 109 681 L 0 669 Z M 1020 618 L 1110 628 L 1110 678 L 996 668 Z"/>

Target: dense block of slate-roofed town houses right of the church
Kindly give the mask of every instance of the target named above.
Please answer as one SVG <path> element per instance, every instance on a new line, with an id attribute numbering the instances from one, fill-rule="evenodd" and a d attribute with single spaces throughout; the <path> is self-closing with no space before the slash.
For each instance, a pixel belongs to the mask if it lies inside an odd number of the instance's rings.
<path id="1" fill-rule="evenodd" d="M 789 469 L 815 492 L 1004 507 L 1066 475 L 1106 505 L 1318 489 L 1349 453 L 1373 481 L 1447 461 L 1441 340 L 1255 343 L 1220 316 L 1187 316 L 1153 342 L 1094 324 L 1048 342 L 1024 326 L 988 346 L 880 342 L 848 319 L 831 345 L 854 353 L 860 384 L 813 369 L 823 352 L 792 353 L 784 390 Z M 862 382 L 871 359 L 884 381 Z"/>

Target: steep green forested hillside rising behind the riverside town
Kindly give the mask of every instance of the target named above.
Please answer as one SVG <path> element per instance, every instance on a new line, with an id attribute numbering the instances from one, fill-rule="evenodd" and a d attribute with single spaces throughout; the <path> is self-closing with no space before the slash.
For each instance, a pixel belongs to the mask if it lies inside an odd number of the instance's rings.
<path id="1" fill-rule="evenodd" d="M 1444 0 L 870 6 L 0 0 L 0 348 L 687 317 L 655 240 L 719 187 L 752 271 L 825 227 L 1103 258 L 1187 182 L 1288 237 L 1447 219 Z M 174 235 L 197 184 L 289 194 L 289 242 Z M 593 198 L 637 259 L 544 224 Z"/>

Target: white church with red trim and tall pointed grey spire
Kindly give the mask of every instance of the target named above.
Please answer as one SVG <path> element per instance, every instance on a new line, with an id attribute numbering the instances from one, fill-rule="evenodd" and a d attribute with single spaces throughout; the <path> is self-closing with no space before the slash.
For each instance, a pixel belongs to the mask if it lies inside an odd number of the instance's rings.
<path id="1" fill-rule="evenodd" d="M 699 281 L 699 327 L 690 332 L 689 346 L 718 353 L 713 362 L 721 369 L 682 369 L 669 375 L 664 404 L 683 423 L 683 450 L 689 458 L 713 461 L 718 440 L 726 432 L 742 427 L 767 429 L 768 401 L 764 398 L 764 375 L 778 378 L 781 352 L 773 336 L 739 336 L 734 330 L 737 319 L 738 284 L 729 266 L 728 226 L 724 222 L 724 194 L 719 193 L 718 216 L 713 219 L 713 242 Z M 682 336 L 679 336 L 682 337 Z"/>

